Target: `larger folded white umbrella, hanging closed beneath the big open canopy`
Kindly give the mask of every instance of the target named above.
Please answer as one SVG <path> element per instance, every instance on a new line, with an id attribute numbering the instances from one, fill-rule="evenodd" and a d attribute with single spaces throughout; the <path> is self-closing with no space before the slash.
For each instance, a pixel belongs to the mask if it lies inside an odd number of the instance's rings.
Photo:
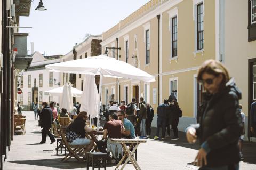
<path id="1" fill-rule="evenodd" d="M 84 77 L 83 95 L 81 97 L 80 111 L 86 111 L 90 115 L 90 119 L 98 117 L 98 104 L 99 93 L 95 83 L 94 75 L 86 75 Z"/>

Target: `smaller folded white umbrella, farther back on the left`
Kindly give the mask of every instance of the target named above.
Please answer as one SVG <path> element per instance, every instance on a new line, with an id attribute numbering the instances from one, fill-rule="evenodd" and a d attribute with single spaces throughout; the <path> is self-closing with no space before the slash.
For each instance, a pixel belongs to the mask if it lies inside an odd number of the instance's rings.
<path id="1" fill-rule="evenodd" d="M 71 87 L 68 83 L 63 86 L 62 99 L 60 103 L 61 108 L 66 108 L 68 112 L 73 109 L 73 98 L 71 93 Z"/>

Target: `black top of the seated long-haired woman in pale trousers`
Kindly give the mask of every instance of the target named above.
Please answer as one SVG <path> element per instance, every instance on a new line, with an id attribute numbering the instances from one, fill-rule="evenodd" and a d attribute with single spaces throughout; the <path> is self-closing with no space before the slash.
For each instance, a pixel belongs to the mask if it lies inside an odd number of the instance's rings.
<path id="1" fill-rule="evenodd" d="M 85 137 L 85 125 L 85 120 L 77 117 L 70 125 L 68 125 L 66 131 L 72 131 L 80 135 L 80 137 Z"/>

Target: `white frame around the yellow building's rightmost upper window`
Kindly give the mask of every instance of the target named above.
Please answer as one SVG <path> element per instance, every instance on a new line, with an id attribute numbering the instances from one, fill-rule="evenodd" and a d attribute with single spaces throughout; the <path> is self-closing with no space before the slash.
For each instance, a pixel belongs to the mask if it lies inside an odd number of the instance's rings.
<path id="1" fill-rule="evenodd" d="M 202 53 L 202 56 L 204 55 L 204 48 L 201 50 L 197 50 L 197 5 L 203 3 L 203 20 L 204 20 L 204 0 L 193 0 L 193 20 L 195 25 L 195 47 L 194 47 L 194 57 L 196 57 L 197 53 Z M 203 23 L 204 24 L 204 23 Z"/>

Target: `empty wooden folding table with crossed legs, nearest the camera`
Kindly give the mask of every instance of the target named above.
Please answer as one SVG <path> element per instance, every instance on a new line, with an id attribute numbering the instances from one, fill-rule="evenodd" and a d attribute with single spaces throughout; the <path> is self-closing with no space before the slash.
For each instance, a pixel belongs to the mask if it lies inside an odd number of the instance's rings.
<path id="1" fill-rule="evenodd" d="M 130 160 L 131 163 L 133 164 L 133 166 L 135 167 L 135 169 L 141 169 L 137 163 L 137 161 L 134 159 L 133 157 L 133 153 L 135 152 L 135 150 L 138 148 L 140 143 L 146 143 L 147 140 L 146 139 L 124 139 L 124 138 L 111 138 L 111 141 L 115 142 L 115 143 L 120 143 L 122 145 L 122 148 L 124 149 L 124 156 L 122 157 L 122 159 L 119 161 L 119 163 L 117 164 L 115 169 L 118 169 L 118 167 L 122 164 L 123 160 L 125 159 L 125 157 L 127 156 L 128 158 L 125 160 L 124 165 L 121 167 L 121 170 L 124 169 L 125 165 L 127 164 L 127 162 Z M 130 144 L 130 147 L 127 148 L 126 144 Z M 133 150 L 132 147 L 134 146 Z"/>

